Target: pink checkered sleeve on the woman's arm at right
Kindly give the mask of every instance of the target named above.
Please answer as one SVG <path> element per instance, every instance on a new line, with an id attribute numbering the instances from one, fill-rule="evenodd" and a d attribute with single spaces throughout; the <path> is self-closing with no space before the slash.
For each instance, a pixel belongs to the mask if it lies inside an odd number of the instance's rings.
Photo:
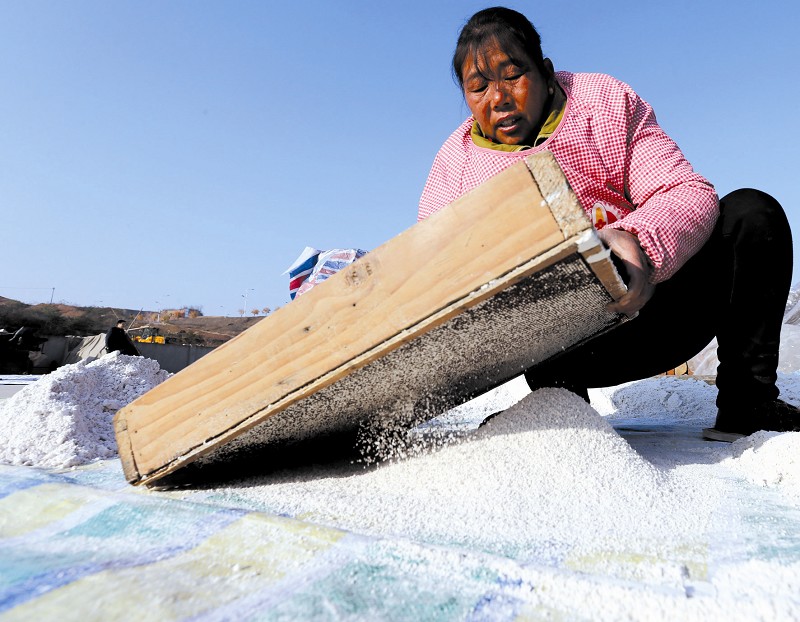
<path id="1" fill-rule="evenodd" d="M 627 85 L 625 85 L 627 87 Z M 658 125 L 650 105 L 626 88 L 624 191 L 635 210 L 611 225 L 639 238 L 651 281 L 670 278 L 706 243 L 719 215 L 714 187 L 695 173 Z"/>

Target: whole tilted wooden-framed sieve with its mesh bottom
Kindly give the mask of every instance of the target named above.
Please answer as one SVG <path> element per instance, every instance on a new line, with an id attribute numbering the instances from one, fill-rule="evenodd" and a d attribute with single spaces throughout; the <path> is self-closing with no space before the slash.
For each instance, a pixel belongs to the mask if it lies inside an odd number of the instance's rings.
<path id="1" fill-rule="evenodd" d="M 433 417 L 615 325 L 623 292 L 552 155 L 531 156 L 122 409 L 126 477 Z"/>

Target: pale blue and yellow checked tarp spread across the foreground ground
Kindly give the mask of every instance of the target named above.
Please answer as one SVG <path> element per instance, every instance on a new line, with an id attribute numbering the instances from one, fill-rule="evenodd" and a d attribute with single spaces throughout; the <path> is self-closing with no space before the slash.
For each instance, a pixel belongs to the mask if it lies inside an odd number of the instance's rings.
<path id="1" fill-rule="evenodd" d="M 628 430 L 645 456 L 668 442 L 708 455 L 691 425 Z M 360 535 L 212 491 L 133 488 L 116 460 L 64 472 L 0 466 L 0 617 L 792 619 L 798 506 L 720 473 L 725 514 L 674 543 L 669 559 L 622 543 L 603 559 L 547 565 Z"/>

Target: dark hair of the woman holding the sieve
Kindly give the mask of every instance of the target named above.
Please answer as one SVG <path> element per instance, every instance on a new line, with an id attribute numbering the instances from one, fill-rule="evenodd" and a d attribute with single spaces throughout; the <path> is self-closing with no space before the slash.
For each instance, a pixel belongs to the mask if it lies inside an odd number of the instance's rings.
<path id="1" fill-rule="evenodd" d="M 496 43 L 520 67 L 533 63 L 543 76 L 548 75 L 542 54 L 542 40 L 533 24 L 522 13 L 505 7 L 492 7 L 478 11 L 469 18 L 458 36 L 453 54 L 453 77 L 463 90 L 461 69 L 468 56 L 476 67 L 487 44 Z"/>

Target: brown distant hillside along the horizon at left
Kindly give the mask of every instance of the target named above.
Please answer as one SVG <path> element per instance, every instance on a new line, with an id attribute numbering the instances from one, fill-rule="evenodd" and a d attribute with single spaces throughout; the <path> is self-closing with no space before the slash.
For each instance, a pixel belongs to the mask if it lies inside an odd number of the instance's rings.
<path id="1" fill-rule="evenodd" d="M 164 319 L 155 311 L 65 304 L 28 305 L 0 296 L 0 328 L 13 332 L 21 326 L 29 326 L 41 336 L 96 335 L 106 332 L 118 320 L 124 320 L 126 328 L 133 329 L 132 335 L 137 334 L 137 328 L 148 326 L 163 335 L 168 343 L 218 346 L 262 319 L 260 316 L 170 316 Z"/>

